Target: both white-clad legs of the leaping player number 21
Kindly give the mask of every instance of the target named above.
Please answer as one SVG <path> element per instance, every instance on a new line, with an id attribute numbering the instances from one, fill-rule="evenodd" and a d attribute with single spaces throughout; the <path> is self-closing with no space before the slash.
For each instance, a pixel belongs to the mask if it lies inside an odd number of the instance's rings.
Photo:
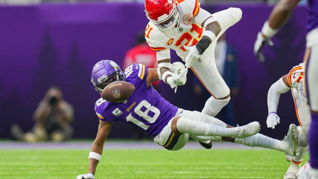
<path id="1" fill-rule="evenodd" d="M 221 25 L 221 32 L 202 54 L 202 61 L 195 62 L 191 69 L 211 94 L 202 112 L 210 116 L 215 116 L 230 101 L 230 89 L 220 73 L 218 73 L 215 65 L 214 49 L 216 41 L 229 27 L 240 21 L 242 18 L 242 10 L 239 8 L 229 8 L 216 12 L 212 14 L 212 16 L 218 19 L 218 23 Z"/>

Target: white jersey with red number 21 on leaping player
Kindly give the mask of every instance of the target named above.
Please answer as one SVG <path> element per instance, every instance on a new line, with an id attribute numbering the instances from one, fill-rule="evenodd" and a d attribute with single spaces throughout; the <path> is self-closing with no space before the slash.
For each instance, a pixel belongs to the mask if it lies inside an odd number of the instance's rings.
<path id="1" fill-rule="evenodd" d="M 205 29 L 194 21 L 195 15 L 200 11 L 198 0 L 176 0 L 176 3 L 177 11 L 180 14 L 178 31 L 176 33 L 162 31 L 149 22 L 145 37 L 152 50 L 158 52 L 172 49 L 176 51 L 178 56 L 185 59 L 189 52 L 183 46 L 196 45 L 202 38 Z"/>

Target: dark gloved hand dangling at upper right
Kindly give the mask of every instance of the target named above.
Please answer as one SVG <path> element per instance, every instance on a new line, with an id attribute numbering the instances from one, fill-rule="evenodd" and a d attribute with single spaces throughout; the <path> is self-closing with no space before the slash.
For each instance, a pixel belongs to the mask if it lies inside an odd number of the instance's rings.
<path id="1" fill-rule="evenodd" d="M 263 36 L 262 32 L 259 32 L 257 34 L 257 39 L 254 44 L 254 54 L 260 62 L 265 61 L 265 57 L 263 55 L 263 48 L 266 45 L 273 46 L 274 43 L 270 40 L 270 38 Z"/>

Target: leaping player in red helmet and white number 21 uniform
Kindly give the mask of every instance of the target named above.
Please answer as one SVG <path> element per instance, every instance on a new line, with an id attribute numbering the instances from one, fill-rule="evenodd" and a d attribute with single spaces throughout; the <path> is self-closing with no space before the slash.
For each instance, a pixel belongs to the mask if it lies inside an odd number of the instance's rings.
<path id="1" fill-rule="evenodd" d="M 240 21 L 241 9 L 210 14 L 200 8 L 198 0 L 146 0 L 145 12 L 150 20 L 145 37 L 156 51 L 160 79 L 171 88 L 186 82 L 171 72 L 172 49 L 211 94 L 202 112 L 215 116 L 230 100 L 230 90 L 215 65 L 215 44 L 229 27 Z"/>

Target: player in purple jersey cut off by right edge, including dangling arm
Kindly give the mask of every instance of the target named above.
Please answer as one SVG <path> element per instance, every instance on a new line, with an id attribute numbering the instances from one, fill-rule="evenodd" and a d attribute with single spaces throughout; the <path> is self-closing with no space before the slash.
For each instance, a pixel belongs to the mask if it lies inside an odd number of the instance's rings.
<path id="1" fill-rule="evenodd" d="M 264 61 L 262 49 L 265 45 L 273 45 L 270 38 L 287 21 L 294 7 L 300 0 L 280 0 L 272 10 L 268 20 L 265 22 L 262 31 L 257 34 L 254 45 L 254 53 L 261 61 Z M 306 91 L 311 109 L 311 125 L 308 132 L 308 143 L 311 163 L 312 179 L 318 179 L 318 1 L 307 0 L 307 36 L 306 54 L 304 61 Z M 309 57 L 310 56 L 310 57 Z M 310 167 L 304 165 L 298 178 L 307 178 Z"/>

